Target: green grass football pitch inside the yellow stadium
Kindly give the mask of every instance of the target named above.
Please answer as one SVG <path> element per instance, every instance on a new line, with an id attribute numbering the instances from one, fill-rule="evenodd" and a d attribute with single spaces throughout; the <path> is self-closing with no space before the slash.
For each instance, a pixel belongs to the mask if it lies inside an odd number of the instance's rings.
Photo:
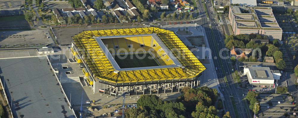
<path id="1" fill-rule="evenodd" d="M 127 55 L 127 57 L 124 58 L 124 56 L 126 56 L 126 55 Z M 118 66 L 120 68 L 138 68 L 138 67 L 159 66 L 158 63 L 156 63 L 156 61 L 154 59 L 152 59 L 152 56 L 149 53 L 126 54 L 126 55 L 115 55 L 115 61 L 117 62 Z M 136 55 L 138 55 L 139 58 L 137 58 Z M 119 56 L 121 56 L 121 57 L 119 57 Z"/>

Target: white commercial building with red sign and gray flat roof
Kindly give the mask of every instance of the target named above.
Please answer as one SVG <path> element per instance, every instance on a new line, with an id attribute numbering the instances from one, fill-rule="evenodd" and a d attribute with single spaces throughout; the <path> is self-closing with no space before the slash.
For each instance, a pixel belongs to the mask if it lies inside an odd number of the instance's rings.
<path id="1" fill-rule="evenodd" d="M 269 67 L 244 67 L 244 75 L 247 75 L 249 84 L 258 87 L 273 87 L 274 78 Z"/>

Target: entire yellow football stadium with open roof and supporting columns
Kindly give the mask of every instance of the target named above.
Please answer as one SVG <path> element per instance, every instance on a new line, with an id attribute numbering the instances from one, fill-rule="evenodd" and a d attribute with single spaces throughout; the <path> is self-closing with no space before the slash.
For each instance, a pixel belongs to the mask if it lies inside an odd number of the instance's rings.
<path id="1" fill-rule="evenodd" d="M 94 93 L 180 91 L 206 69 L 173 31 L 155 27 L 83 31 L 71 52 Z"/>

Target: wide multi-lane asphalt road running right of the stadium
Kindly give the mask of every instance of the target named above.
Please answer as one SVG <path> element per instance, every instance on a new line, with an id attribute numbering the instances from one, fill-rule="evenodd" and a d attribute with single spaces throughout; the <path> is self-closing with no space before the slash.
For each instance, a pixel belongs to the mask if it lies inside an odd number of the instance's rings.
<path id="1" fill-rule="evenodd" d="M 225 48 L 224 45 L 224 38 L 223 35 L 220 31 L 220 27 L 218 26 L 218 23 L 215 20 L 216 15 L 214 12 L 214 9 L 211 7 L 211 2 L 207 3 L 207 13 L 209 15 L 209 20 L 207 19 L 205 13 L 204 13 L 204 5 L 201 2 L 198 2 L 198 10 L 201 12 L 200 15 L 202 17 L 201 22 L 197 22 L 200 23 L 200 25 L 202 25 L 202 27 L 204 27 L 206 34 L 207 34 L 207 39 L 208 39 L 208 43 L 210 46 L 210 49 L 212 50 L 212 57 L 213 57 L 213 62 L 216 68 L 218 68 L 216 71 L 217 76 L 218 76 L 218 80 L 219 80 L 219 90 L 221 90 L 221 93 L 223 93 L 224 95 L 224 101 L 226 104 L 226 110 L 230 112 L 231 117 L 236 118 L 234 109 L 233 109 L 233 104 L 231 102 L 230 97 L 234 98 L 235 101 L 235 106 L 238 111 L 238 115 L 241 118 L 248 118 L 250 113 L 247 113 L 245 106 L 244 106 L 244 102 L 242 102 L 243 94 L 246 93 L 246 90 L 242 90 L 237 88 L 237 86 L 235 85 L 236 83 L 233 80 L 232 77 L 232 69 L 230 68 L 229 62 L 231 62 L 229 60 L 229 58 L 227 59 L 222 59 L 219 58 L 219 55 L 222 55 L 224 57 L 228 57 L 229 55 L 226 55 L 226 51 L 222 52 L 219 54 L 219 51 L 223 48 Z M 214 39 L 212 39 L 212 32 L 210 29 L 210 26 L 212 28 L 213 34 L 214 34 Z M 224 76 L 227 79 L 227 82 L 225 82 L 224 80 Z M 226 85 L 228 84 L 228 86 Z"/>

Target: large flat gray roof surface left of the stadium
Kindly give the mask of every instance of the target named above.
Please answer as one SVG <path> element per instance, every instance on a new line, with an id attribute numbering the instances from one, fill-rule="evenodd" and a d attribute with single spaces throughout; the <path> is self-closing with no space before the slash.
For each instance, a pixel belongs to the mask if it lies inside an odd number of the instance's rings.
<path id="1" fill-rule="evenodd" d="M 1 58 L 0 67 L 13 117 L 75 118 L 46 56 Z"/>

